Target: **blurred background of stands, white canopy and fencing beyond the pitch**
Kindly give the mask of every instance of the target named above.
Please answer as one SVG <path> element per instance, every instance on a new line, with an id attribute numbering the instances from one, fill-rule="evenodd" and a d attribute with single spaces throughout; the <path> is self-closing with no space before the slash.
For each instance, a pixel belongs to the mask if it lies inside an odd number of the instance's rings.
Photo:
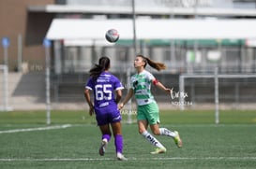
<path id="1" fill-rule="evenodd" d="M 255 19 L 254 0 L 0 0 L 0 109 L 88 108 L 103 55 L 126 94 L 137 53 L 167 65 L 147 67 L 173 87 L 173 98 L 153 90 L 161 108 L 256 109 Z"/>

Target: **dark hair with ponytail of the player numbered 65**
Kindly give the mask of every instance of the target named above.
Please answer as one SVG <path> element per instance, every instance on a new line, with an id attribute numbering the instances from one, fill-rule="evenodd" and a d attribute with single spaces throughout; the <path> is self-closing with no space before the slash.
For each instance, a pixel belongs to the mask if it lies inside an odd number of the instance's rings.
<path id="1" fill-rule="evenodd" d="M 98 64 L 95 64 L 95 66 L 91 68 L 89 71 L 90 77 L 97 79 L 102 72 L 110 68 L 110 64 L 111 64 L 111 61 L 108 57 L 103 56 L 99 58 Z"/>

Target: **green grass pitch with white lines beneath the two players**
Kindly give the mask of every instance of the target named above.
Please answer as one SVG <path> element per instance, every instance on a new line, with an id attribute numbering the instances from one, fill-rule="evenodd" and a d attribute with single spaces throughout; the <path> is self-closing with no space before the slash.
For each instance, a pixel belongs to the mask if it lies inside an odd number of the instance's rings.
<path id="1" fill-rule="evenodd" d="M 113 138 L 105 156 L 98 155 L 100 133 L 94 117 L 85 111 L 52 111 L 46 125 L 45 111 L 0 113 L 0 168 L 255 168 L 256 112 L 161 111 L 161 127 L 177 130 L 184 142 L 157 136 L 167 148 L 154 149 L 138 134 L 136 123 L 123 116 L 124 154 L 128 162 L 115 159 Z M 135 120 L 135 115 L 132 116 Z"/>

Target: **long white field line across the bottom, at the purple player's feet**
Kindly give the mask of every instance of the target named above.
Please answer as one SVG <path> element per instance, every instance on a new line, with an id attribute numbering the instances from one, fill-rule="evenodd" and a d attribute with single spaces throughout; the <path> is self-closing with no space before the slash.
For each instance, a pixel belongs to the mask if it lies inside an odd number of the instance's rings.
<path id="1" fill-rule="evenodd" d="M 0 159 L 0 162 L 93 162 L 113 161 L 114 158 L 78 159 Z M 256 157 L 173 157 L 173 158 L 128 158 L 128 161 L 256 161 Z"/>

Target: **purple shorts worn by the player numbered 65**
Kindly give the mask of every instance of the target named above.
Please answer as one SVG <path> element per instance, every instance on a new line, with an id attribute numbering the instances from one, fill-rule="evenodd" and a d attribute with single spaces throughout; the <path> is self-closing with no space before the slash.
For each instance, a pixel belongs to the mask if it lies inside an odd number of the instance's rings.
<path id="1" fill-rule="evenodd" d="M 96 112 L 96 120 L 98 122 L 98 126 L 119 122 L 122 120 L 122 116 L 120 111 L 117 108 L 113 108 L 110 106 L 104 106 L 95 108 Z"/>

